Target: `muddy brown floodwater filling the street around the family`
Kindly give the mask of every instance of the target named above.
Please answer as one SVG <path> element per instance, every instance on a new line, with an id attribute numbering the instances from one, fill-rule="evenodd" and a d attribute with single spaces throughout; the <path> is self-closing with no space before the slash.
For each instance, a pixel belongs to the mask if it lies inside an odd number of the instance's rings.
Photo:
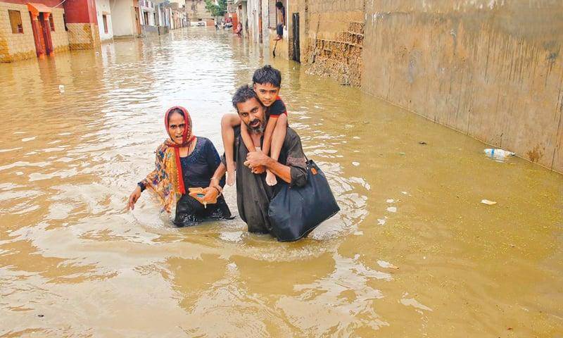
<path id="1" fill-rule="evenodd" d="M 265 63 L 342 211 L 296 243 L 239 218 L 176 228 L 150 193 L 124 211 L 165 109 L 221 151 Z M 0 75 L 1 337 L 563 335 L 562 175 L 213 28 Z"/>

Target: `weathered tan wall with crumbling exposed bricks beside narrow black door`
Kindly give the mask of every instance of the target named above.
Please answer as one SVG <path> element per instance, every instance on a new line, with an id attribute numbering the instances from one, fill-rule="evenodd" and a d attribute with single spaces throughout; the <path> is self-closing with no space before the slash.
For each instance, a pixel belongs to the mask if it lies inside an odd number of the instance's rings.
<path id="1" fill-rule="evenodd" d="M 364 1 L 299 0 L 298 12 L 301 63 L 308 65 L 308 72 L 359 86 Z M 291 21 L 291 12 L 288 19 Z"/>

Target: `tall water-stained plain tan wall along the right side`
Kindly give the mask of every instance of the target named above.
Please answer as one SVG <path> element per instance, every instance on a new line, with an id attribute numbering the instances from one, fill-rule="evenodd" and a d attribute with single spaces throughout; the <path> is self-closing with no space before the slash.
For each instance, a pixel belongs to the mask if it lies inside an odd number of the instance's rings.
<path id="1" fill-rule="evenodd" d="M 563 173 L 563 1 L 365 1 L 362 89 Z"/>

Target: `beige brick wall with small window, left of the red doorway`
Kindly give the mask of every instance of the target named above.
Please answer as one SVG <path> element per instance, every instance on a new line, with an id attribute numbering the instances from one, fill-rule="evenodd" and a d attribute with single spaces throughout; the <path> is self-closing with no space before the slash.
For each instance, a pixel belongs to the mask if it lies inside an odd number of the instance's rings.
<path id="1" fill-rule="evenodd" d="M 20 11 L 23 34 L 12 33 L 8 10 Z M 0 62 L 23 60 L 33 58 L 36 55 L 31 18 L 27 6 L 0 2 Z"/>

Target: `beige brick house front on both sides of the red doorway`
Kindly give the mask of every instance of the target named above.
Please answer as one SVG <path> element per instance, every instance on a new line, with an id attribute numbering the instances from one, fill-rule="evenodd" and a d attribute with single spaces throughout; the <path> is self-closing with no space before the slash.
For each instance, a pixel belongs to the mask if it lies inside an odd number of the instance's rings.
<path id="1" fill-rule="evenodd" d="M 20 11 L 23 34 L 13 34 L 8 10 Z M 55 52 L 68 51 L 68 35 L 63 21 L 63 9 L 53 9 L 55 31 L 51 31 Z M 31 27 L 30 13 L 26 5 L 0 2 L 0 62 L 11 62 L 37 56 Z"/>

